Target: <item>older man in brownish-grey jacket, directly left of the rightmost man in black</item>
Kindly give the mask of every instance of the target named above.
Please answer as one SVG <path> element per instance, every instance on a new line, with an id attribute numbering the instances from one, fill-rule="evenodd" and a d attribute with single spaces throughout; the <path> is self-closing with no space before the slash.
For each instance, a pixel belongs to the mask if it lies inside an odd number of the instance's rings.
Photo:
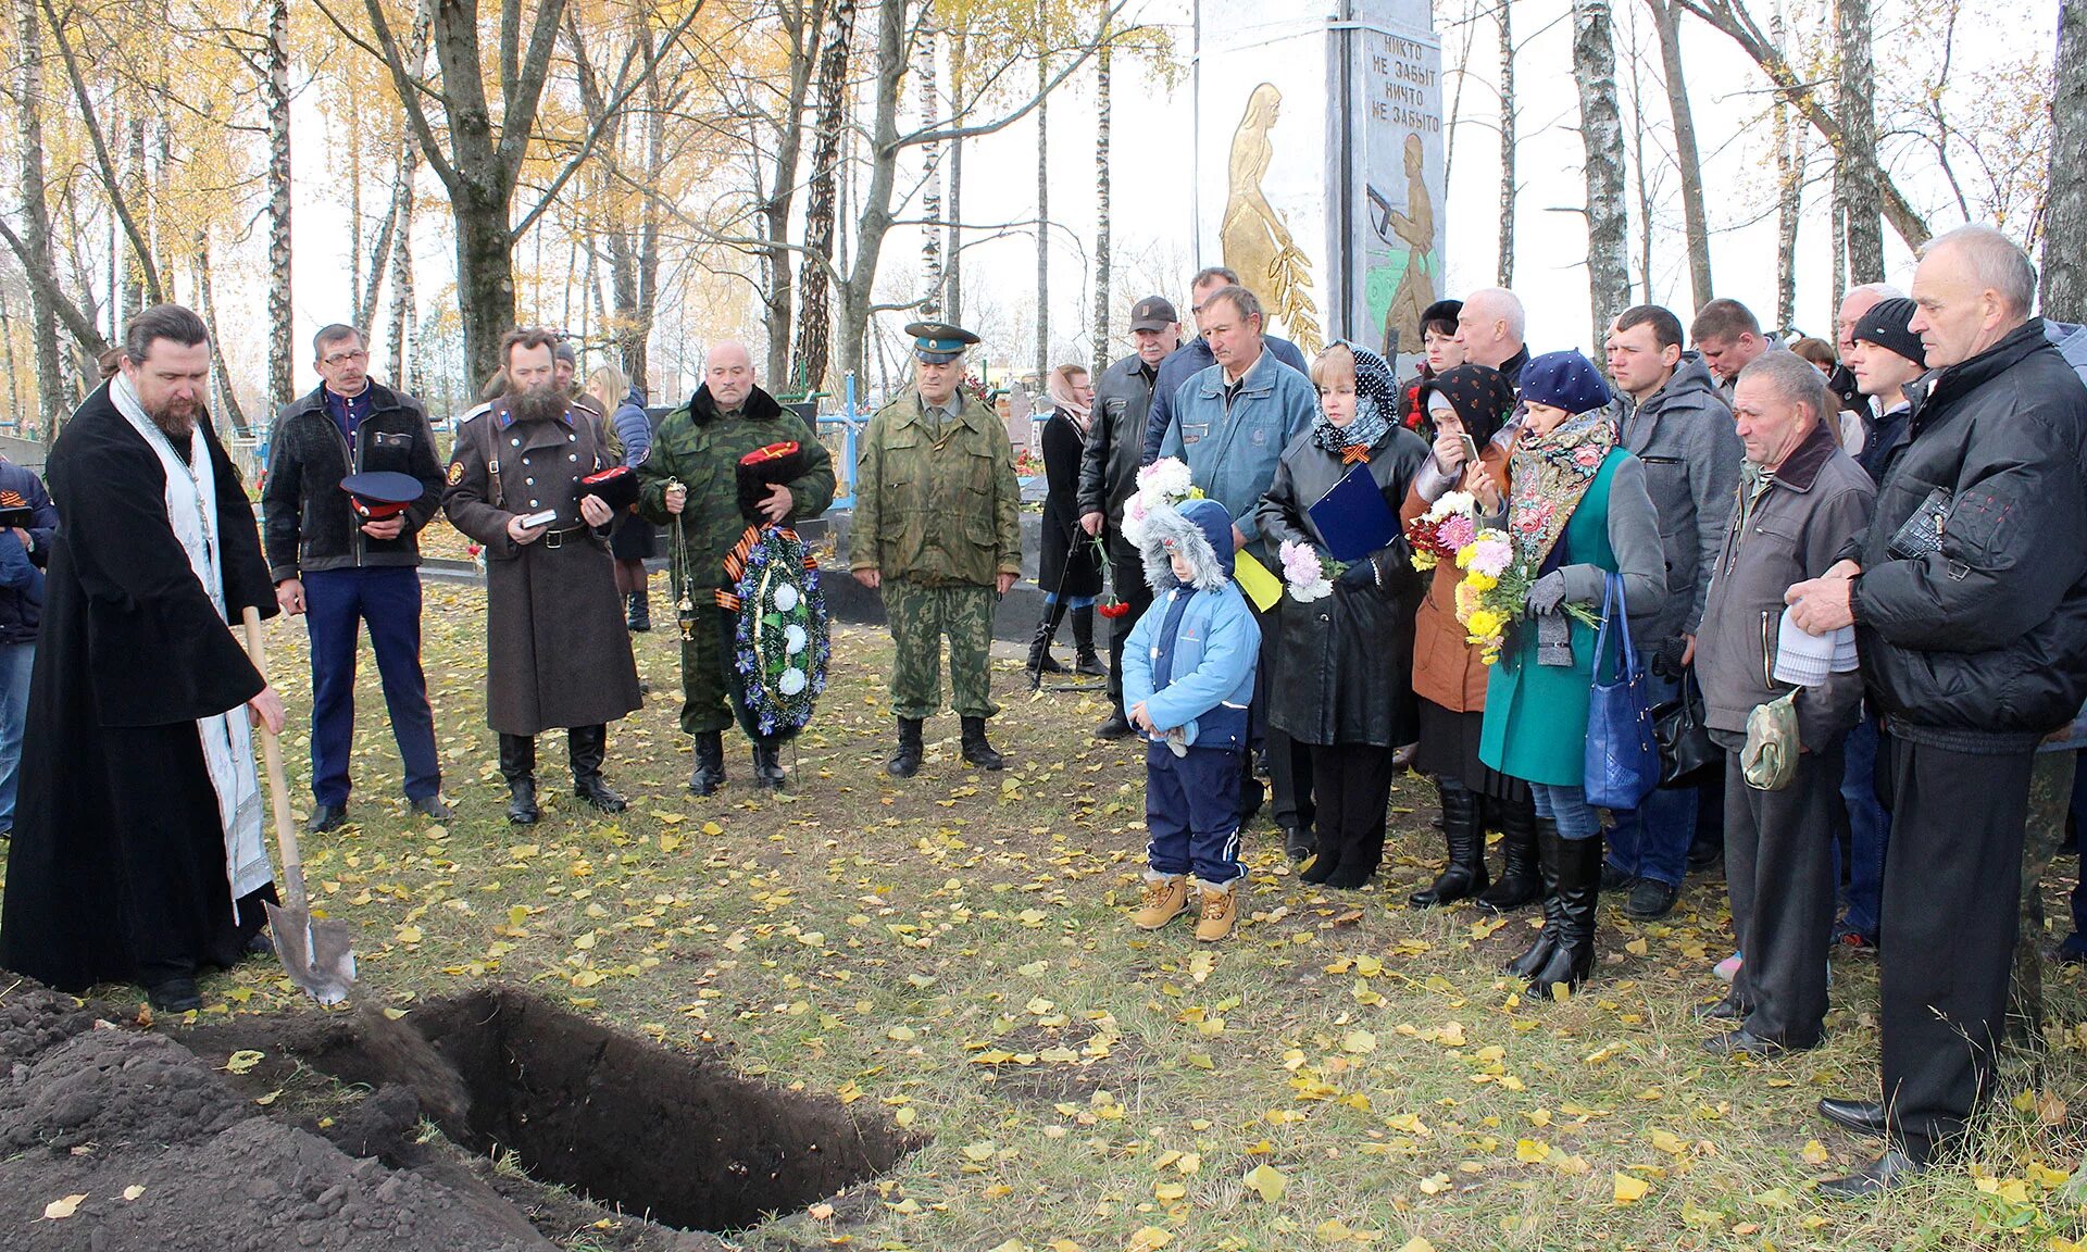
<path id="1" fill-rule="evenodd" d="M 1862 705 L 1853 664 L 1843 672 L 1830 661 L 1799 666 L 1797 649 L 1778 649 L 1780 632 L 1772 632 L 1782 593 L 1824 574 L 1868 526 L 1876 488 L 1834 440 L 1839 405 L 1826 380 L 1795 353 L 1757 357 L 1738 374 L 1732 403 L 1747 467 L 1703 603 L 1697 678 L 1711 741 L 1728 757 L 1724 872 L 1747 960 L 1732 991 L 1703 1016 L 1736 1025 L 1709 1039 L 1709 1052 L 1772 1056 L 1814 1048 L 1826 1020 L 1832 805 L 1841 739 Z M 1832 639 L 1820 647 L 1830 653 Z M 1780 791 L 1757 791 L 1738 762 L 1747 716 L 1791 684 L 1803 687 L 1795 701 L 1797 776 Z"/>

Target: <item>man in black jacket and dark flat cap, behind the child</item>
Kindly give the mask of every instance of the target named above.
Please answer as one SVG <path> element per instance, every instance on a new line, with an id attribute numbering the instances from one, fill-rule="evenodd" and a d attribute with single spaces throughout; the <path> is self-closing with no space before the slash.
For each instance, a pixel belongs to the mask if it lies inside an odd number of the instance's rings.
<path id="1" fill-rule="evenodd" d="M 1137 457 L 1144 451 L 1146 415 L 1152 411 L 1152 388 L 1160 363 L 1181 342 L 1181 319 L 1165 296 L 1146 296 L 1131 305 L 1131 342 L 1137 353 L 1102 371 L 1094 388 L 1094 428 L 1079 457 L 1079 526 L 1087 534 L 1108 530 L 1108 578 L 1123 613 L 1108 628 L 1108 720 L 1096 728 L 1100 739 L 1127 739 L 1131 724 L 1123 716 L 1123 643 L 1131 626 L 1152 605 L 1144 557 L 1137 545 L 1123 538 L 1108 522 L 1123 524 L 1123 503 L 1137 490 Z"/>

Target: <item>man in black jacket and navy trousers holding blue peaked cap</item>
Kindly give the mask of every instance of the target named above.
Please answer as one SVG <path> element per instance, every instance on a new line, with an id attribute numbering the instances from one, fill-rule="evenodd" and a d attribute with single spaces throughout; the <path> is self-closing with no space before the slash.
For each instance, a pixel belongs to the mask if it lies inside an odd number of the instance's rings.
<path id="1" fill-rule="evenodd" d="M 303 613 L 311 634 L 311 830 L 346 820 L 355 639 L 363 622 L 405 766 L 407 803 L 447 820 L 419 668 L 417 534 L 442 501 L 428 411 L 369 380 L 369 351 L 353 326 L 328 326 L 311 346 L 321 382 L 275 415 L 261 492 L 275 603 Z"/>

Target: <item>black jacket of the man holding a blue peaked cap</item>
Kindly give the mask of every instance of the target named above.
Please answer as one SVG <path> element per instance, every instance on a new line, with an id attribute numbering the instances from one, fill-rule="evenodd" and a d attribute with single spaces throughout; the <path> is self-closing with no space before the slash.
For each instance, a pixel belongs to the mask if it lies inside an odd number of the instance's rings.
<path id="1" fill-rule="evenodd" d="M 369 415 L 355 426 L 355 447 L 326 411 L 323 384 L 290 401 L 269 436 L 267 486 L 261 490 L 261 538 L 269 578 L 359 565 L 419 565 L 419 528 L 442 505 L 442 461 L 434 455 L 428 411 L 409 394 L 369 384 Z M 349 507 L 340 480 L 390 469 L 419 480 L 399 538 L 369 538 Z"/>

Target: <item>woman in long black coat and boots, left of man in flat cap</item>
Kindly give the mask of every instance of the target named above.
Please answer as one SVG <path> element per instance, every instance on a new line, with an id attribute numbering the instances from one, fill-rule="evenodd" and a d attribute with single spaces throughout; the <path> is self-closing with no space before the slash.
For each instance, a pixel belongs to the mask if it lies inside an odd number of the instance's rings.
<path id="1" fill-rule="evenodd" d="M 1037 553 L 1044 620 L 1029 641 L 1029 674 L 1037 678 L 1064 670 L 1052 659 L 1050 645 L 1058 622 L 1071 613 L 1077 670 L 1100 676 L 1108 672 L 1094 651 L 1094 597 L 1102 595 L 1102 563 L 1094 540 L 1079 526 L 1079 457 L 1094 419 L 1094 384 L 1079 365 L 1060 365 L 1050 374 L 1050 396 L 1058 407 L 1044 424 L 1044 480 L 1050 484 L 1044 497 L 1044 551 Z"/>

